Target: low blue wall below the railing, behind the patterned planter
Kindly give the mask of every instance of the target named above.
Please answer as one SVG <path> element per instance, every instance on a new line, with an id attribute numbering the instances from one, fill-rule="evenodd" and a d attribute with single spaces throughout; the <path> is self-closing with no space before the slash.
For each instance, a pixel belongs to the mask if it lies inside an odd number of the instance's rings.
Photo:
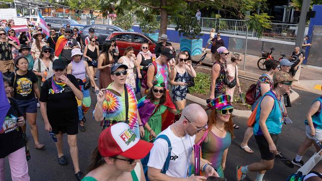
<path id="1" fill-rule="evenodd" d="M 133 26 L 134 32 L 142 32 L 139 26 Z M 159 32 L 159 31 L 157 31 Z M 175 43 L 180 43 L 180 38 L 183 38 L 184 36 L 179 36 L 179 32 L 175 30 L 166 30 L 166 35 L 169 38 L 169 42 L 175 42 Z M 207 41 L 209 39 L 209 34 L 204 34 L 200 38 L 203 39 L 203 47 L 207 45 Z M 225 43 L 225 46 L 228 48 L 229 47 L 229 37 L 222 36 L 221 39 Z M 210 48 L 209 46 L 208 48 Z"/>

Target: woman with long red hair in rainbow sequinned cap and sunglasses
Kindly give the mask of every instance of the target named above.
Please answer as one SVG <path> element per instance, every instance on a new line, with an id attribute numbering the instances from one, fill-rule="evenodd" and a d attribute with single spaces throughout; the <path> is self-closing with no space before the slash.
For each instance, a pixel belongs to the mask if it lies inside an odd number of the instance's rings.
<path id="1" fill-rule="evenodd" d="M 228 148 L 234 137 L 231 118 L 234 107 L 230 100 L 230 95 L 220 95 L 207 105 L 212 109 L 208 129 L 197 134 L 195 139 L 202 146 L 202 158 L 212 163 L 221 178 L 224 178 Z"/>

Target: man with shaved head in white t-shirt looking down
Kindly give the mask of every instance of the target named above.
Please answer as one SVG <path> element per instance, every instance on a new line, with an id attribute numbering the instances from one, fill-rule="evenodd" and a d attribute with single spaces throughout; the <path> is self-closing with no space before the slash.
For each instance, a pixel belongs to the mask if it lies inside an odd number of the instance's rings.
<path id="1" fill-rule="evenodd" d="M 195 135 L 207 127 L 208 116 L 206 111 L 198 104 L 189 104 L 182 110 L 180 119 L 158 136 L 167 136 L 171 146 L 171 156 L 168 169 L 162 172 L 168 155 L 168 143 L 165 139 L 159 138 L 154 142 L 150 152 L 148 163 L 148 176 L 152 181 L 176 181 L 177 178 L 186 181 L 202 181 L 208 176 L 217 176 L 215 169 L 201 159 L 201 168 L 205 166 L 205 177 L 190 176 L 188 178 L 189 165 L 194 165 L 194 152 L 192 150 Z M 157 137 L 158 137 L 157 136 Z"/>

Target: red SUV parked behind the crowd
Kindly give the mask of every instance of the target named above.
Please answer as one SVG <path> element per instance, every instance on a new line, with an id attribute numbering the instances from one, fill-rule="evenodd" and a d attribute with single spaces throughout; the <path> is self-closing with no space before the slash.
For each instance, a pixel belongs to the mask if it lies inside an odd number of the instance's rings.
<path id="1" fill-rule="evenodd" d="M 151 53 L 154 53 L 157 44 L 152 38 L 139 32 L 113 32 L 107 37 L 106 41 L 110 41 L 111 39 L 115 39 L 120 56 L 123 55 L 124 50 L 128 46 L 132 46 L 134 48 L 134 54 L 137 55 L 142 43 L 148 43 Z"/>

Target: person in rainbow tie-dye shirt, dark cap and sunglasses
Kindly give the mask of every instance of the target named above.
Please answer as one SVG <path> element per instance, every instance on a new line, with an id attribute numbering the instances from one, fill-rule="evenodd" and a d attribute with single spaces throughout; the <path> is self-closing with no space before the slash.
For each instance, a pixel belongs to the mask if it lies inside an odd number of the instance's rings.
<path id="1" fill-rule="evenodd" d="M 143 137 L 144 128 L 137 109 L 135 91 L 130 85 L 125 84 L 127 69 L 128 67 L 121 63 L 115 63 L 111 67 L 110 77 L 114 82 L 98 93 L 94 118 L 101 122 L 103 129 L 118 122 L 125 122 L 137 136 Z"/>

